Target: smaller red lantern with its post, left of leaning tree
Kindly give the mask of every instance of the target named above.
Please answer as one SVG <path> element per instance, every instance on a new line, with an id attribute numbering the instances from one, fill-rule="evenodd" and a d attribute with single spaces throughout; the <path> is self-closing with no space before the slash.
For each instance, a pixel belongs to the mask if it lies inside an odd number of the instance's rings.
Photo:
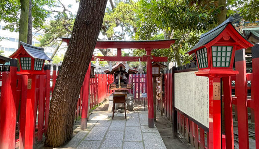
<path id="1" fill-rule="evenodd" d="M 19 49 L 14 52 L 11 58 L 17 58 L 20 63 L 20 72 L 17 74 L 26 75 L 28 77 L 26 110 L 21 111 L 21 117 L 25 117 L 25 123 L 21 123 L 20 132 L 24 136 L 20 136 L 21 145 L 24 149 L 32 149 L 35 133 L 36 122 L 36 76 L 45 74 L 44 62 L 51 59 L 44 53 L 43 48 L 35 47 L 21 42 Z"/>

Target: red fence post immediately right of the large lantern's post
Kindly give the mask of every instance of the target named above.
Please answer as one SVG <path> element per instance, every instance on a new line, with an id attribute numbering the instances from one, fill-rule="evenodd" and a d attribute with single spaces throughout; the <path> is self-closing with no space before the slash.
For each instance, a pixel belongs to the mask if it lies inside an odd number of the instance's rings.
<path id="1" fill-rule="evenodd" d="M 234 149 L 230 76 L 223 77 L 226 149 Z"/>

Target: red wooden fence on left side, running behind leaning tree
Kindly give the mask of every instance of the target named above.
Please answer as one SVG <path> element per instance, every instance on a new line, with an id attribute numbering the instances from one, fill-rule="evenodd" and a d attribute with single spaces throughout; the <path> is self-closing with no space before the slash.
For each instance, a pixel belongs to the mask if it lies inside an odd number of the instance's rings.
<path id="1" fill-rule="evenodd" d="M 59 68 L 60 69 L 60 68 Z M 56 78 L 57 67 L 45 66 L 45 75 L 36 76 L 35 110 L 29 111 L 32 101 L 27 99 L 28 77 L 16 74 L 17 67 L 10 67 L 9 72 L 1 72 L 1 99 L 0 99 L 0 149 L 32 148 L 34 139 L 29 135 L 35 130 L 34 137 L 42 140 L 48 128 L 48 114 L 50 100 Z M 51 75 L 52 74 L 52 75 Z M 112 75 L 96 74 L 90 79 L 90 108 L 101 103 L 110 95 L 108 83 L 113 80 Z M 52 84 L 52 85 L 51 85 Z M 87 85 L 87 84 L 83 84 Z M 78 99 L 76 116 L 82 112 L 82 89 Z M 29 116 L 35 118 L 35 129 L 27 124 Z M 19 133 L 15 133 L 19 132 Z M 26 132 L 26 133 L 25 133 Z M 32 132 L 33 133 L 33 132 Z"/>

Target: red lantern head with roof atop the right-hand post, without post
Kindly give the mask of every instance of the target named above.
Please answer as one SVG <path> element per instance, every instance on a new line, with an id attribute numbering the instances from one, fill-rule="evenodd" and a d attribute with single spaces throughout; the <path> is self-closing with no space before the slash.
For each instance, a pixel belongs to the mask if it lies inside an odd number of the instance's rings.
<path id="1" fill-rule="evenodd" d="M 187 52 L 190 55 L 195 53 L 194 55 L 196 56 L 199 69 L 198 72 L 195 72 L 196 75 L 224 77 L 238 74 L 238 71 L 234 71 L 232 69 L 235 58 L 235 52 L 239 49 L 246 49 L 248 47 L 252 47 L 253 44 L 246 40 L 235 29 L 235 27 L 232 25 L 232 22 L 234 22 L 234 19 L 230 17 L 216 28 L 210 30 L 205 34 L 202 34 L 200 41 L 190 51 Z M 215 46 L 217 47 L 216 51 L 214 51 L 213 49 L 213 47 Z M 221 51 L 218 51 L 218 47 L 221 47 Z M 224 47 L 226 47 L 225 51 L 223 51 Z M 227 54 L 229 54 L 227 51 L 228 47 L 232 47 L 230 56 L 227 56 Z M 200 59 L 201 54 L 199 53 L 199 51 L 202 49 L 207 50 L 207 64 L 205 64 L 206 67 L 204 67 L 204 61 L 202 61 L 204 59 Z M 216 52 L 217 54 L 216 57 L 213 54 L 214 52 Z M 218 53 L 220 53 L 220 56 L 218 56 Z M 224 58 L 225 61 L 223 61 Z M 226 62 L 228 58 L 229 61 Z M 216 62 L 216 66 L 214 65 L 214 62 Z M 228 66 L 226 66 L 227 63 Z M 218 66 L 218 64 L 220 65 Z"/>

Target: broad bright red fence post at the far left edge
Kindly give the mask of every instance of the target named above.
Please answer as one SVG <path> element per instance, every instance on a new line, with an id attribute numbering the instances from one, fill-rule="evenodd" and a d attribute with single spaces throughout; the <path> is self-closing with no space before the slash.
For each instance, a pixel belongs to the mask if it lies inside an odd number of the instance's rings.
<path id="1" fill-rule="evenodd" d="M 11 60 L 10 72 L 2 73 L 0 99 L 0 149 L 15 149 L 17 60 Z"/>

